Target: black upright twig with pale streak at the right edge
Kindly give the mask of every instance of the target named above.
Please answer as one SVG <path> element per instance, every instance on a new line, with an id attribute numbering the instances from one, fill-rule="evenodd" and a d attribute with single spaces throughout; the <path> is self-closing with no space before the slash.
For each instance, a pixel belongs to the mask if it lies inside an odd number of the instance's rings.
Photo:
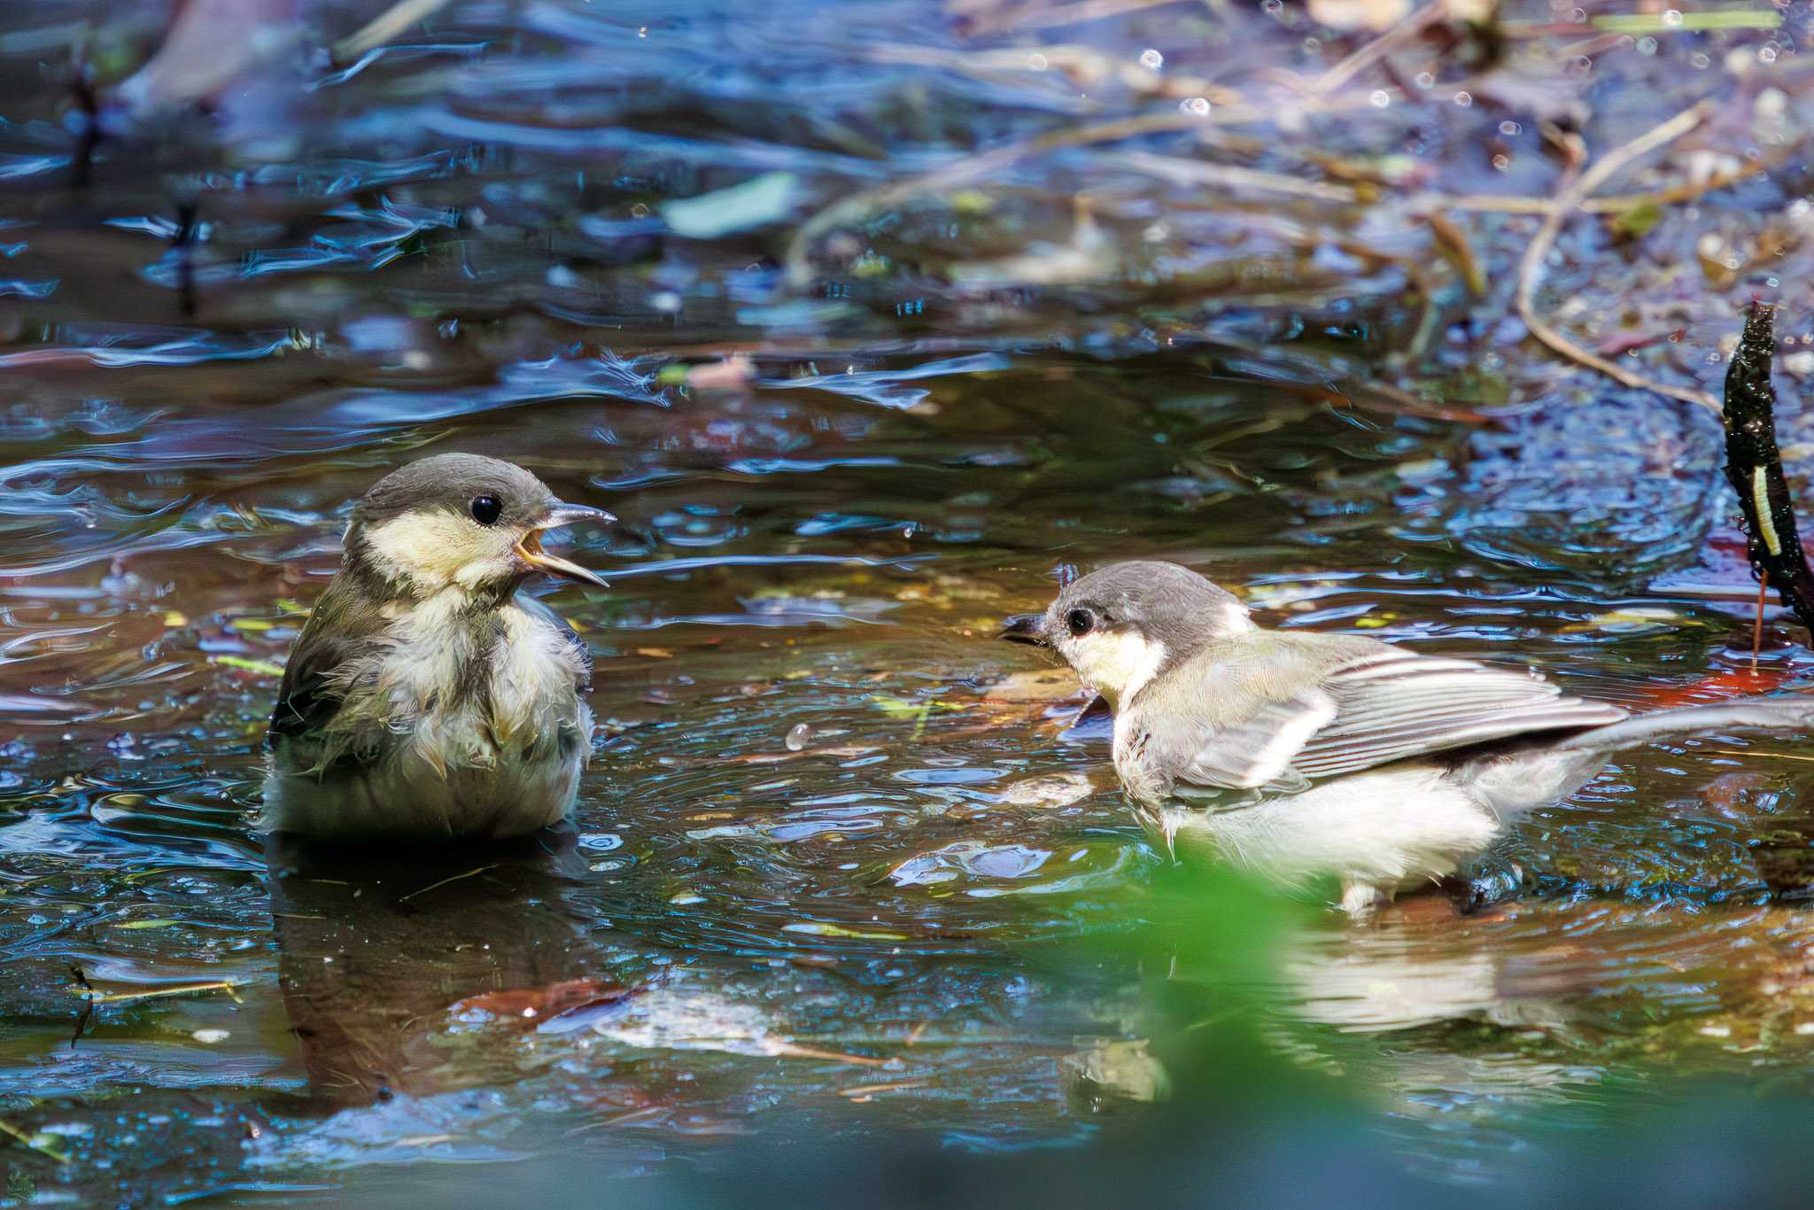
<path id="1" fill-rule="evenodd" d="M 1776 448 L 1776 356 L 1772 310 L 1752 303 L 1745 332 L 1725 372 L 1725 477 L 1745 512 L 1751 566 L 1814 631 L 1814 570 L 1801 551 L 1796 510 Z"/>

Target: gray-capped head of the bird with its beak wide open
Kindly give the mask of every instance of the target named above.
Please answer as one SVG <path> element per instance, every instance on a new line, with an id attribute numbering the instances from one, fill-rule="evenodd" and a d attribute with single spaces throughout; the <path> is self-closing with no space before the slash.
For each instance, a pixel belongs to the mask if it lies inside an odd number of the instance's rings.
<path id="1" fill-rule="evenodd" d="M 412 597 L 461 588 L 502 599 L 537 571 L 604 588 L 593 571 L 541 546 L 542 530 L 577 521 L 617 519 L 557 501 L 512 463 L 437 454 L 385 475 L 354 504 L 346 564 Z"/>

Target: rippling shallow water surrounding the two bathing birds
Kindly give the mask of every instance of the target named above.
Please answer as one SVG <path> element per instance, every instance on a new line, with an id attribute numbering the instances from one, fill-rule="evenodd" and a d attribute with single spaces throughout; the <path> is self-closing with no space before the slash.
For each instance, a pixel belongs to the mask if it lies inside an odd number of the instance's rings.
<path id="1" fill-rule="evenodd" d="M 1306 1107 L 1419 1179 L 1491 1177 L 1689 1078 L 1807 1069 L 1805 740 L 1624 753 L 1495 854 L 1504 898 L 1471 914 L 1422 894 L 1353 927 L 1246 889 L 1230 914 L 1226 887 L 1179 894 L 1074 688 L 990 642 L 1061 564 L 1152 555 L 1273 624 L 1620 702 L 1805 686 L 1778 620 L 1749 671 L 1711 414 L 1565 376 L 1458 290 L 1409 356 L 1399 268 L 1288 272 L 1119 151 L 876 203 L 882 270 L 791 281 L 840 196 L 1148 112 L 954 71 L 938 54 L 1029 36 L 918 2 L 454 5 L 352 71 L 279 56 L 212 118 L 114 114 L 82 187 L 45 47 L 93 15 L 54 7 L 0 38 L 11 1197 L 383 1192 L 386 1165 L 575 1154 L 678 1179 L 766 1137 L 1090 1148 L 1161 1094 L 1224 1096 L 1146 1047 L 1228 1012 L 1248 1061 L 1308 1070 Z M 1310 69 L 1299 31 L 1163 13 L 1092 45 L 1234 85 L 1214 51 L 1243 36 Z M 151 53 L 149 18 L 109 20 L 98 62 Z M 1444 187 L 1538 189 L 1535 156 L 1491 181 L 1444 158 L 1458 118 L 1377 120 L 1422 122 Z M 755 172 L 805 201 L 691 239 L 660 220 Z M 1780 198 L 1747 189 L 1703 223 Z M 1266 221 L 1312 221 L 1293 207 Z M 1692 241 L 1674 221 L 1654 239 Z M 1097 236 L 1108 281 L 1007 263 Z M 1729 299 L 1683 308 L 1645 365 L 1716 386 Z M 573 831 L 274 851 L 249 825 L 263 726 L 348 503 L 455 448 L 624 521 L 575 533 L 608 593 L 535 588 L 597 668 Z M 156 990 L 180 994 L 105 1001 Z"/>

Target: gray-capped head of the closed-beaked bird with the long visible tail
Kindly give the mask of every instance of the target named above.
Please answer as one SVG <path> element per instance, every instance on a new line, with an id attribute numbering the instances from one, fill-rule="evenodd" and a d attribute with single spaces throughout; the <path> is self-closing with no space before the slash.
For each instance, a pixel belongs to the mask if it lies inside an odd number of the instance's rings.
<path id="1" fill-rule="evenodd" d="M 1012 642 L 1052 648 L 1119 709 L 1161 669 L 1253 629 L 1246 606 L 1175 562 L 1116 562 L 1068 584 L 1045 613 L 1009 619 Z"/>

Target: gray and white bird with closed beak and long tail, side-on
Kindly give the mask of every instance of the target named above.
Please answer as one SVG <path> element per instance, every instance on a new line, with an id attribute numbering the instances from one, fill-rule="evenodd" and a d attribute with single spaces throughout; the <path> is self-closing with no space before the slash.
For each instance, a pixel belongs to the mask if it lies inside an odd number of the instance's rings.
<path id="1" fill-rule="evenodd" d="M 1458 873 L 1620 747 L 1814 724 L 1814 697 L 1631 717 L 1527 669 L 1268 631 L 1168 562 L 1094 571 L 1003 639 L 1052 648 L 1108 702 L 1116 773 L 1168 849 L 1288 887 L 1335 876 L 1350 912 Z"/>

